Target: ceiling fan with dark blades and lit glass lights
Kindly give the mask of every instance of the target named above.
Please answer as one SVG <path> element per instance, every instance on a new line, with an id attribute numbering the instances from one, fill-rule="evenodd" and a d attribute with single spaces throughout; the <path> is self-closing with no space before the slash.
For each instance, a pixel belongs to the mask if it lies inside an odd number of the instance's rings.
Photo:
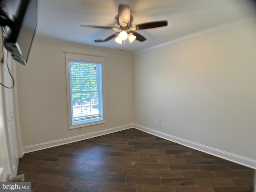
<path id="1" fill-rule="evenodd" d="M 100 28 L 100 29 L 110 29 L 117 31 L 114 34 L 108 36 L 106 39 L 97 39 L 94 40 L 96 43 L 106 42 L 114 37 L 116 37 L 115 42 L 118 44 L 122 44 L 123 41 L 129 40 L 132 43 L 135 39 L 143 42 L 146 40 L 144 36 L 135 32 L 135 30 L 141 29 L 149 29 L 149 28 L 156 28 L 167 26 L 167 20 L 162 21 L 153 21 L 153 22 L 146 22 L 142 24 L 132 25 L 133 16 L 130 13 L 130 6 L 126 4 L 119 4 L 118 6 L 118 14 L 115 16 L 116 27 L 110 26 L 96 26 L 96 25 L 80 25 L 81 27 L 89 27 L 89 28 Z M 122 48 L 121 48 L 122 50 Z"/>

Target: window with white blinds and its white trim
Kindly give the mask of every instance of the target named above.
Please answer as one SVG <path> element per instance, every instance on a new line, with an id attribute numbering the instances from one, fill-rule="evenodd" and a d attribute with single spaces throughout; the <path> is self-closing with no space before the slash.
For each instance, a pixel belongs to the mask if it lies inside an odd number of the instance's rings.
<path id="1" fill-rule="evenodd" d="M 69 128 L 105 123 L 104 58 L 65 54 Z"/>

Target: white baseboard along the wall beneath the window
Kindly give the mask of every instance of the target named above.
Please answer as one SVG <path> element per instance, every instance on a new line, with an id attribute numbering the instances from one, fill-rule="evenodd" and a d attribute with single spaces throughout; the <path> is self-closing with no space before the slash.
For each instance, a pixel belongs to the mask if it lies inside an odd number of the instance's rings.
<path id="1" fill-rule="evenodd" d="M 77 142 L 77 141 L 81 141 L 81 140 L 85 140 L 85 139 L 90 139 L 93 137 L 98 137 L 98 136 L 126 130 L 129 128 L 133 128 L 133 124 L 123 125 L 123 126 L 119 126 L 119 127 L 106 129 L 106 130 L 96 131 L 96 132 L 92 132 L 92 133 L 88 133 L 88 134 L 82 134 L 82 135 L 78 135 L 78 136 L 74 136 L 74 137 L 40 143 L 40 144 L 36 144 L 36 145 L 30 145 L 30 146 L 23 147 L 22 149 L 23 149 L 24 153 L 28 153 L 28 152 L 33 152 L 33 151 L 38 151 L 38 150 L 42 150 L 42 149 L 46 149 L 46 148 L 56 147 L 56 146 L 60 146 L 60 145 L 64 145 L 64 144 L 68 144 L 68 143 L 72 143 L 72 142 Z"/>

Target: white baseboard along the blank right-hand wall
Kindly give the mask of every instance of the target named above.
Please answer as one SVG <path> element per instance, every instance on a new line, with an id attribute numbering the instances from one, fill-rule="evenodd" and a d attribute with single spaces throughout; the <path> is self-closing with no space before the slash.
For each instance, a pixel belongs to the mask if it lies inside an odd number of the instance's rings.
<path id="1" fill-rule="evenodd" d="M 181 145 L 184 145 L 184 146 L 187 146 L 187 147 L 190 147 L 190 148 L 193 148 L 193 149 L 196 149 L 196 150 L 199 150 L 199 151 L 202 151 L 202 152 L 205 152 L 205 153 L 208 153 L 208 154 L 211 154 L 211 155 L 214 155 L 214 156 L 217 156 L 217 157 L 220 157 L 220 158 L 223 158 L 223 159 L 256 169 L 256 160 L 242 157 L 242 156 L 232 154 L 229 152 L 225 152 L 222 150 L 218 150 L 215 148 L 211 148 L 211 147 L 208 147 L 208 146 L 205 146 L 202 144 L 198 144 L 195 142 L 191 142 L 191 141 L 188 141 L 188 140 L 185 140 L 182 138 L 178 138 L 178 137 L 175 137 L 175 136 L 172 136 L 169 134 L 165 134 L 163 132 L 159 132 L 156 130 L 152 130 L 150 128 L 140 126 L 137 124 L 133 124 L 133 127 L 138 130 L 141 130 L 143 132 L 147 132 L 149 134 L 158 136 L 160 138 L 163 138 L 163 139 L 166 139 L 166 140 L 169 140 L 169 141 L 172 141 L 172 142 L 175 142 L 175 143 L 178 143 L 178 144 L 181 144 Z"/>

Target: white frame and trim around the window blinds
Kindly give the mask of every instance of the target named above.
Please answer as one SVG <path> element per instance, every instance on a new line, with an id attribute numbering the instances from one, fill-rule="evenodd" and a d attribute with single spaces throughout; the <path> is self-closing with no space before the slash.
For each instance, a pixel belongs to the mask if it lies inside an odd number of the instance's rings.
<path id="1" fill-rule="evenodd" d="M 92 126 L 96 124 L 106 123 L 106 107 L 105 107 L 105 73 L 104 73 L 104 65 L 105 65 L 105 58 L 102 56 L 94 56 L 94 55 L 86 55 L 86 54 L 79 54 L 74 52 L 65 52 L 65 59 L 66 59 L 66 93 L 67 93 L 67 107 L 68 107 L 68 129 L 76 129 L 86 126 Z M 103 119 L 96 120 L 87 123 L 81 124 L 72 124 L 72 105 L 71 105 L 71 86 L 70 86 L 70 63 L 72 61 L 77 62 L 84 62 L 84 63 L 95 63 L 101 64 L 101 78 L 102 78 L 102 112 L 103 112 Z"/>

